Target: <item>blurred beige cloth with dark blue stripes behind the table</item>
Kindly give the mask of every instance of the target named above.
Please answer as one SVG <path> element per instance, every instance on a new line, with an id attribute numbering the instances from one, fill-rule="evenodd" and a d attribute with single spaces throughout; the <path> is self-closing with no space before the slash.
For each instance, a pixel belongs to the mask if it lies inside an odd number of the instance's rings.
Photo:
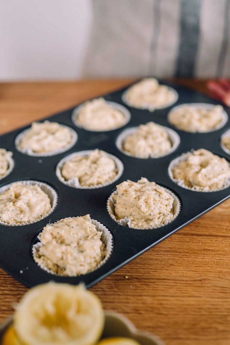
<path id="1" fill-rule="evenodd" d="M 230 77 L 230 0 L 92 0 L 83 76 Z"/>

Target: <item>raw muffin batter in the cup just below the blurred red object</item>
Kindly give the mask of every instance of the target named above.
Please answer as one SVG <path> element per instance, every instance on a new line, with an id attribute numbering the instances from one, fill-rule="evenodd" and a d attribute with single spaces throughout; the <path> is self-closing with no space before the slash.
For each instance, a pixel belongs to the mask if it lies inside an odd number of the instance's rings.
<path id="1" fill-rule="evenodd" d="M 205 109 L 184 105 L 169 114 L 169 122 L 187 132 L 209 132 L 215 129 L 222 120 L 221 106 Z"/>

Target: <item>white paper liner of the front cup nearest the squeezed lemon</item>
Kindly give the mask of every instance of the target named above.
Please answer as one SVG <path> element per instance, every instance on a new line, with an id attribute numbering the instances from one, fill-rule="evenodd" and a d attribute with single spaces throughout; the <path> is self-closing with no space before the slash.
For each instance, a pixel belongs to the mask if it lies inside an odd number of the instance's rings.
<path id="1" fill-rule="evenodd" d="M 74 218 L 74 217 L 68 217 L 68 218 Z M 106 226 L 103 225 L 102 223 L 100 223 L 99 221 L 94 220 L 94 219 L 91 219 L 91 220 L 92 220 L 92 224 L 96 226 L 97 231 L 101 231 L 102 232 L 102 236 L 101 236 L 100 239 L 101 239 L 102 243 L 105 245 L 106 256 L 97 265 L 97 267 L 95 267 L 93 270 L 87 272 L 86 274 L 88 274 L 90 272 L 93 272 L 96 269 L 98 269 L 99 267 L 101 267 L 102 265 L 104 265 L 104 263 L 109 259 L 109 257 L 111 256 L 111 254 L 113 252 L 113 236 L 112 236 L 111 232 L 109 231 L 109 229 L 106 228 Z M 38 235 L 38 239 L 39 240 L 40 240 L 40 234 Z M 38 243 L 33 245 L 32 255 L 33 255 L 33 259 L 34 260 L 35 260 L 35 257 L 37 256 L 37 253 L 39 252 L 40 247 L 42 247 L 41 242 L 38 242 Z M 56 274 L 55 272 L 53 272 L 52 270 L 50 270 L 49 268 L 47 268 L 44 265 L 39 265 L 38 263 L 37 263 L 37 265 L 39 267 L 41 267 L 42 269 L 44 269 L 46 272 L 50 273 L 50 274 L 53 274 L 53 275 L 59 276 L 59 277 L 63 277 L 63 276 L 61 276 L 59 274 Z"/>

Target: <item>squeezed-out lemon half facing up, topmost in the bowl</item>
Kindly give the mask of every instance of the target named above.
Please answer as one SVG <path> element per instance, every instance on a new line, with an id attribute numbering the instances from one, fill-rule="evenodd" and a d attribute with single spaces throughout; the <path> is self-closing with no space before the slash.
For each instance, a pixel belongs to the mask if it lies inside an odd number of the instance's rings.
<path id="1" fill-rule="evenodd" d="M 103 327 L 102 304 L 83 285 L 51 282 L 34 287 L 21 299 L 13 318 L 23 345 L 94 345 Z"/>

